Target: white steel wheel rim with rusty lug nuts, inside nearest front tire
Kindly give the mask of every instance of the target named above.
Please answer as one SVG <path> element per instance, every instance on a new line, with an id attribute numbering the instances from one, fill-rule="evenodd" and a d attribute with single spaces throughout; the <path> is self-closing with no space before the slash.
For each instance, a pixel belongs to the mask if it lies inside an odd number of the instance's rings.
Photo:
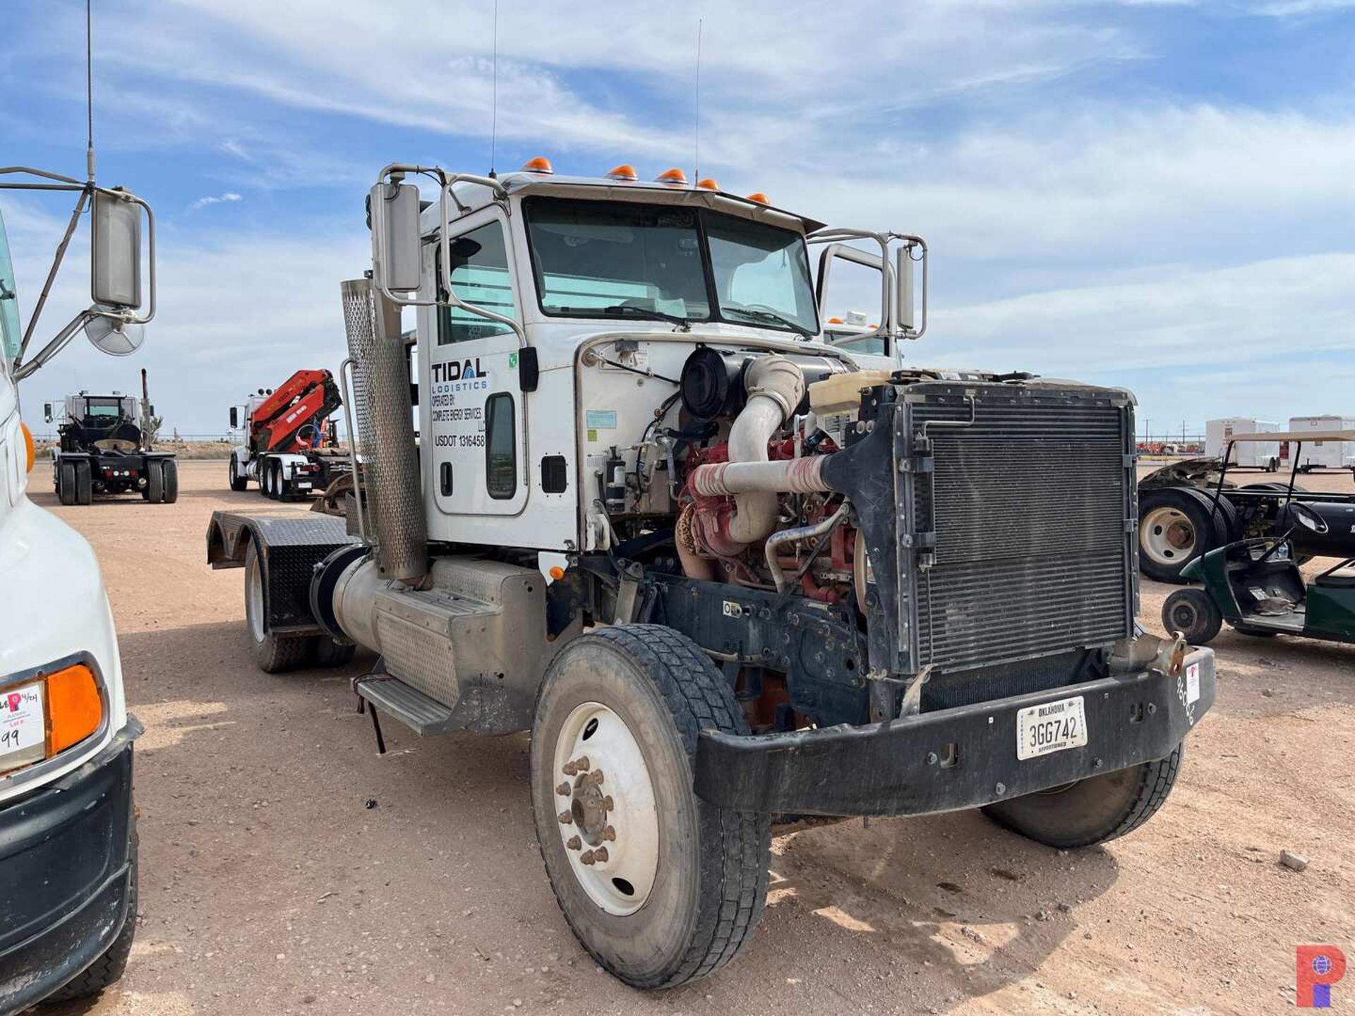
<path id="1" fill-rule="evenodd" d="M 659 809 L 645 756 L 619 715 L 584 702 L 556 741 L 560 839 L 575 878 L 598 906 L 630 914 L 644 906 L 659 871 Z"/>

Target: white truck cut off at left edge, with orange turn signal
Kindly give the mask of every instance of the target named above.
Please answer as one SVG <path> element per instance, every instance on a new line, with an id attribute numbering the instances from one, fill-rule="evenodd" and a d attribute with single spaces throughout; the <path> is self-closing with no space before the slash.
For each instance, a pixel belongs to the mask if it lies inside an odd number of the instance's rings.
<path id="1" fill-rule="evenodd" d="M 142 312 L 142 225 L 149 237 L 154 226 L 140 198 L 93 182 L 92 158 L 88 180 L 0 169 L 0 190 L 79 195 L 26 332 L 0 218 L 0 1013 L 14 1013 L 98 994 L 122 975 L 136 935 L 131 752 L 141 733 L 99 562 L 80 534 L 28 500 L 34 444 L 18 381 L 81 329 L 106 351 L 140 341 L 154 310 L 152 263 Z M 28 356 L 85 209 L 93 302 Z"/>

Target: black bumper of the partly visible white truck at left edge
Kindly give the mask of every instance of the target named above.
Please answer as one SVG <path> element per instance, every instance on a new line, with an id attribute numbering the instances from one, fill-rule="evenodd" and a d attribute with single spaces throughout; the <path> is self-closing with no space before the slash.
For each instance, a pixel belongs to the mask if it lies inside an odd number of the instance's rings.
<path id="1" fill-rule="evenodd" d="M 131 742 L 0 806 L 0 1016 L 62 988 L 107 951 L 131 886 Z"/>

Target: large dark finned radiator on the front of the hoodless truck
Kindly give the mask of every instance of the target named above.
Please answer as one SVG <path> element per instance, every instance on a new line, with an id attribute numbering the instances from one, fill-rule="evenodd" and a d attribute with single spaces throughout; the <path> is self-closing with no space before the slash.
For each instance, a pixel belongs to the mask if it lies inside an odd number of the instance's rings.
<path id="1" fill-rule="evenodd" d="M 1127 396 L 920 385 L 905 401 L 930 458 L 913 484 L 919 550 L 901 555 L 915 660 L 954 672 L 1133 634 Z"/>

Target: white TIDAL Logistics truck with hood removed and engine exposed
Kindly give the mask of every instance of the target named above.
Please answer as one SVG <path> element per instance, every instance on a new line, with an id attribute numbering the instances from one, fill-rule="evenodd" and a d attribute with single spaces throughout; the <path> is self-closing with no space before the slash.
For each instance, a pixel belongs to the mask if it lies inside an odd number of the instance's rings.
<path id="1" fill-rule="evenodd" d="M 1079 848 L 1163 805 L 1214 665 L 1134 623 L 1127 391 L 905 366 L 919 237 L 676 169 L 390 165 L 369 203 L 350 515 L 217 512 L 207 559 L 263 669 L 379 654 L 378 746 L 379 717 L 531 732 L 603 967 L 665 988 L 748 947 L 790 817 L 978 807 Z M 851 351 L 835 259 L 879 275 Z"/>

